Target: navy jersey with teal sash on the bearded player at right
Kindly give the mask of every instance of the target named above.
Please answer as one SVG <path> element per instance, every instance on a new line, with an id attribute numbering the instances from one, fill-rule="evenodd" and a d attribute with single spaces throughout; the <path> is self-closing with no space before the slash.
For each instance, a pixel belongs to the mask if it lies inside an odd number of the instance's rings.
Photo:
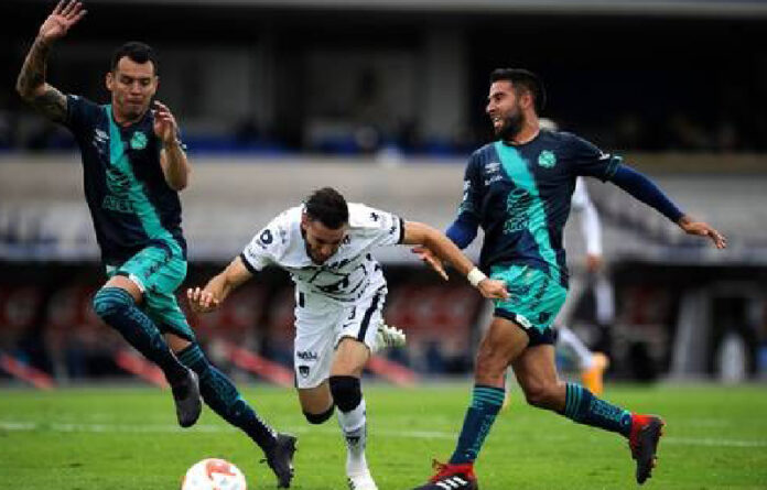
<path id="1" fill-rule="evenodd" d="M 620 157 L 566 132 L 541 130 L 532 141 L 497 141 L 466 166 L 460 215 L 485 232 L 480 268 L 527 264 L 568 285 L 562 235 L 579 175 L 609 179 Z"/>

